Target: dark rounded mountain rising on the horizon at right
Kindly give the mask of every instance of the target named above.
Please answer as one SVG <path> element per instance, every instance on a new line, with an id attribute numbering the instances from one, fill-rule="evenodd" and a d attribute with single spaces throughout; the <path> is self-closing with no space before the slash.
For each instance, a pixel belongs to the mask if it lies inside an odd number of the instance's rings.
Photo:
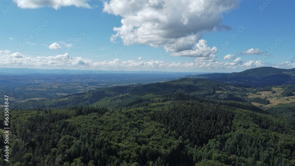
<path id="1" fill-rule="evenodd" d="M 279 86 L 295 83 L 295 68 L 279 69 L 273 67 L 252 68 L 235 73 L 211 73 L 186 75 L 189 78 L 205 78 L 224 83 L 242 84 L 249 86 Z"/>

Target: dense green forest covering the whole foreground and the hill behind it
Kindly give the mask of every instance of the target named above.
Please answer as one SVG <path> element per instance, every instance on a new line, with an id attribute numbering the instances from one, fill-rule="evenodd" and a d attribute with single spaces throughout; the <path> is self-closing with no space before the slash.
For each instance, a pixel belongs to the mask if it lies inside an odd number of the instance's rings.
<path id="1" fill-rule="evenodd" d="M 182 78 L 14 103 L 0 165 L 295 165 L 294 104 L 262 110 L 248 92 Z"/>

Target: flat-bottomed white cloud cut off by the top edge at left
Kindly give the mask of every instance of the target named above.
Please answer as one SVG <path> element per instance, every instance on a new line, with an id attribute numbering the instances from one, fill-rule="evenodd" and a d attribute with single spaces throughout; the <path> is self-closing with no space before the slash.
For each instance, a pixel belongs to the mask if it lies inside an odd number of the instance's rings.
<path id="1" fill-rule="evenodd" d="M 89 0 L 14 0 L 20 8 L 40 8 L 43 6 L 50 6 L 54 9 L 60 9 L 62 6 L 76 6 L 76 7 L 84 7 L 84 8 L 91 8 L 91 6 L 87 3 Z"/>

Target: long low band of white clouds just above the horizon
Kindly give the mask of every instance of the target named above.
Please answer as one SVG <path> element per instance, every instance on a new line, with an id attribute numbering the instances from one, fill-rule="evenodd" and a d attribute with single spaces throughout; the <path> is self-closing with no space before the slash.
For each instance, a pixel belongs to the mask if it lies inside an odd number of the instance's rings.
<path id="1" fill-rule="evenodd" d="M 199 59 L 198 59 L 199 58 Z M 231 62 L 213 61 L 214 57 L 197 57 L 194 61 L 167 62 L 163 60 L 142 61 L 119 60 L 94 61 L 83 57 L 70 57 L 69 53 L 55 56 L 27 57 L 19 52 L 11 53 L 9 50 L 0 51 L 1 67 L 29 67 L 42 69 L 80 69 L 91 70 L 196 70 L 196 69 L 249 69 L 262 66 L 273 66 L 280 68 L 295 67 L 295 62 L 289 61 L 281 64 L 268 64 L 260 60 L 249 60 L 244 62 L 241 58 L 236 58 Z"/>

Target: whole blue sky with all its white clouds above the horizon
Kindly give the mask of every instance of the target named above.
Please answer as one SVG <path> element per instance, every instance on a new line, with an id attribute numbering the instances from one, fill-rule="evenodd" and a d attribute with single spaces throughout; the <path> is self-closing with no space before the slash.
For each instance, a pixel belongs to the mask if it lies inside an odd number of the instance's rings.
<path id="1" fill-rule="evenodd" d="M 0 0 L 0 68 L 295 68 L 294 0 Z"/>

